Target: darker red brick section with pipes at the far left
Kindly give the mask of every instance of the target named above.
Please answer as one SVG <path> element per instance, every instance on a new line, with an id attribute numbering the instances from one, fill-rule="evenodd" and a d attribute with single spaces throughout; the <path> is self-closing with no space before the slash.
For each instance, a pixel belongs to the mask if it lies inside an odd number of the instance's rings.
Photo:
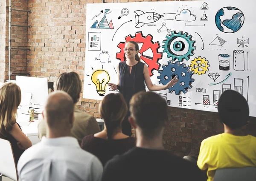
<path id="1" fill-rule="evenodd" d="M 4 66 L 0 66 L 0 79 L 8 80 L 9 71 L 9 0 L 6 0 L 6 31 L 5 31 L 5 61 Z M 28 0 L 12 0 L 12 9 L 28 10 Z M 28 13 L 22 11 L 11 12 L 12 25 L 28 25 Z M 25 27 L 11 27 L 11 45 L 12 48 L 27 48 L 27 29 Z M 1 54 L 2 55 L 2 54 Z M 0 56 L 1 57 L 1 56 Z M 15 79 L 16 75 L 26 74 L 27 51 L 12 50 L 11 51 L 11 79 Z M 1 63 L 1 58 L 0 58 Z M 2 72 L 4 70 L 4 72 Z M 4 77 L 3 77 L 4 76 Z"/>

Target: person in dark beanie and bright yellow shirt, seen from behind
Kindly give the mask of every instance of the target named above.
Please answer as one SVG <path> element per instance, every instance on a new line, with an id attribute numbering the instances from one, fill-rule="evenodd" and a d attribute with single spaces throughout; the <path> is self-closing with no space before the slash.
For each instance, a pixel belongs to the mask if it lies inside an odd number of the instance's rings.
<path id="1" fill-rule="evenodd" d="M 256 137 L 241 130 L 249 119 L 246 99 L 236 91 L 224 91 L 218 102 L 218 113 L 224 133 L 202 141 L 197 161 L 201 170 L 207 170 L 207 181 L 213 181 L 217 169 L 256 167 Z"/>

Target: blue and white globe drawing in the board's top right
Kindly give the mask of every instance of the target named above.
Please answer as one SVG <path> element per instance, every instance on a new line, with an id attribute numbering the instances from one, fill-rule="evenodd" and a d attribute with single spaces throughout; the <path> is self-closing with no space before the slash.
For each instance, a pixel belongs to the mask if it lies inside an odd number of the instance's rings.
<path id="1" fill-rule="evenodd" d="M 244 24 L 244 14 L 238 8 L 224 7 L 215 15 L 217 28 L 225 33 L 235 33 Z"/>

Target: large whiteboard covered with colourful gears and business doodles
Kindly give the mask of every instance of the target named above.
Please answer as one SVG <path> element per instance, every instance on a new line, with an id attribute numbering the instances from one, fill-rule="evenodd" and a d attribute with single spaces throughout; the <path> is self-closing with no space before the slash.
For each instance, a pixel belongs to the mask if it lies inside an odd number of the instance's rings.
<path id="1" fill-rule="evenodd" d="M 256 116 L 254 7 L 254 0 L 87 4 L 83 97 L 116 93 L 104 84 L 117 82 L 122 49 L 134 40 L 153 84 L 178 76 L 173 88 L 157 91 L 169 106 L 217 112 L 221 93 L 232 89 Z"/>

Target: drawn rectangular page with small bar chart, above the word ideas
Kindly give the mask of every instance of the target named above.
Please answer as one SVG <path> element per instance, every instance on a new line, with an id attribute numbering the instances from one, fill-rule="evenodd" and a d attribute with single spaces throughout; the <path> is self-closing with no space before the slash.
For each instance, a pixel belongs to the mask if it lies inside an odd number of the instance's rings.
<path id="1" fill-rule="evenodd" d="M 88 32 L 88 50 L 101 51 L 101 32 Z"/>

